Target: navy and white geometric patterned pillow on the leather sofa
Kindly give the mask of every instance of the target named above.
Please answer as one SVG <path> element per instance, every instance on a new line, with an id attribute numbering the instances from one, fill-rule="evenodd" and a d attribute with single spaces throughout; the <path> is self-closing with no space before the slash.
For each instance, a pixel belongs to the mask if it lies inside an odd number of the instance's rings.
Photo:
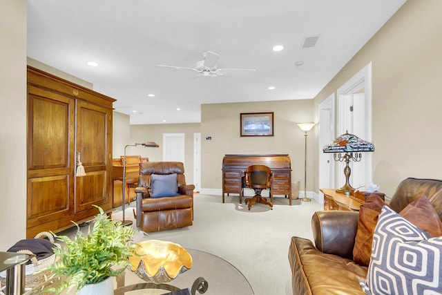
<path id="1" fill-rule="evenodd" d="M 442 294 L 442 237 L 384 206 L 374 230 L 366 294 Z"/>

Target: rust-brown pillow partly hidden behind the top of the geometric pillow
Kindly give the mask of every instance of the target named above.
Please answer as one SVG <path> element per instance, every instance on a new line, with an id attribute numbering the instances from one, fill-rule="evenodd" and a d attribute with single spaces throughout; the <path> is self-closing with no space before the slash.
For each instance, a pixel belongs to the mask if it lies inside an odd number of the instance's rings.
<path id="1" fill-rule="evenodd" d="M 399 214 L 427 234 L 434 237 L 442 236 L 442 221 L 426 197 L 407 204 L 407 207 L 402 209 Z"/>

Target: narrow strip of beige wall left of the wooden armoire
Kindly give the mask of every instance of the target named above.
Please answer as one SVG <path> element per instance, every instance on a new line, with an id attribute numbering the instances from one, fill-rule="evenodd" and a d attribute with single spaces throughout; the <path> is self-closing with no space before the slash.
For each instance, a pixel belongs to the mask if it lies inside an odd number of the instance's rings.
<path id="1" fill-rule="evenodd" d="M 26 0 L 0 0 L 0 251 L 26 238 Z"/>

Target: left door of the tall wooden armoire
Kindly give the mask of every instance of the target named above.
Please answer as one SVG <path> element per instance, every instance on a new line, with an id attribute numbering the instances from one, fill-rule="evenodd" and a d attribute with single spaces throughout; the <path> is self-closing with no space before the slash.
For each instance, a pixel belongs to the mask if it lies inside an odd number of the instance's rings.
<path id="1" fill-rule="evenodd" d="M 28 228 L 73 216 L 74 122 L 75 99 L 28 86 Z"/>

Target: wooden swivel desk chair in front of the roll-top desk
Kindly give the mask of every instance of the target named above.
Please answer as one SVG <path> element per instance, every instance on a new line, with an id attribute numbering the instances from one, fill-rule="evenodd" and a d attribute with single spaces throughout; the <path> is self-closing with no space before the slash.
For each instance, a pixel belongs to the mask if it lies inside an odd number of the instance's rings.
<path id="1" fill-rule="evenodd" d="M 245 171 L 245 181 L 247 187 L 255 191 L 253 198 L 247 198 L 244 202 L 249 202 L 249 210 L 256 203 L 268 204 L 270 209 L 273 210 L 273 203 L 267 201 L 266 198 L 261 196 L 263 189 L 270 189 L 271 187 L 271 170 L 265 165 L 251 165 L 247 167 Z"/>

